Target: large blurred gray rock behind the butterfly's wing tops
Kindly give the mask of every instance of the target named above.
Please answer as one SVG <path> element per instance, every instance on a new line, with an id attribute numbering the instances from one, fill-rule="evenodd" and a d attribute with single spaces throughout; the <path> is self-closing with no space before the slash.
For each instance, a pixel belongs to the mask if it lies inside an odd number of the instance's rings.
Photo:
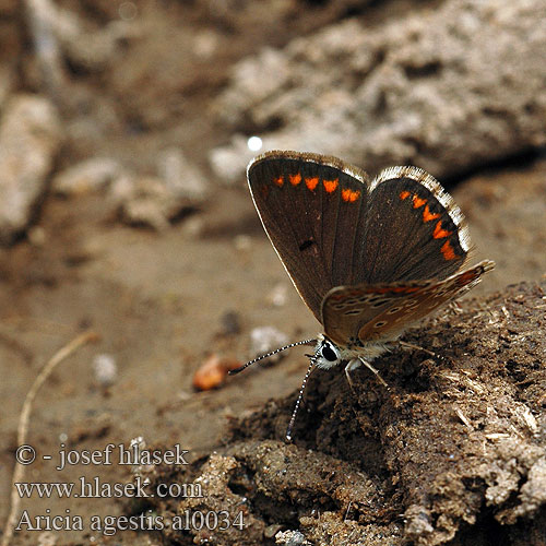
<path id="1" fill-rule="evenodd" d="M 280 124 L 264 150 L 453 175 L 546 144 L 545 20 L 543 0 L 448 0 L 371 31 L 348 20 L 240 61 L 216 111 L 235 131 Z M 218 175 L 244 176 L 240 144 L 211 153 Z"/>

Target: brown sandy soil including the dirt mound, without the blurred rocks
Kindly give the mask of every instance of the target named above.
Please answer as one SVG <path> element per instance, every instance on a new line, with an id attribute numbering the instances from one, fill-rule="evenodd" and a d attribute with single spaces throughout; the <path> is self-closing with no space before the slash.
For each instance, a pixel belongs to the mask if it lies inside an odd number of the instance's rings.
<path id="1" fill-rule="evenodd" d="M 373 7 L 370 21 L 405 3 L 393 5 Z M 111 15 L 104 1 L 81 9 L 97 24 Z M 158 150 L 176 144 L 210 176 L 206 151 L 228 133 L 206 112 L 229 67 L 258 43 L 278 46 L 341 16 L 328 3 L 316 9 L 321 17 L 296 11 L 272 32 L 251 9 L 219 24 L 199 2 L 143 3 L 146 38 L 129 41 L 122 63 L 98 75 L 71 73 L 63 116 L 83 132 L 67 141 L 59 168 L 108 153 L 145 173 Z M 219 44 L 206 61 L 188 52 L 204 32 Z M 32 74 L 27 46 L 12 33 L 22 70 Z M 515 158 L 450 188 L 471 224 L 475 260 L 494 259 L 497 270 L 473 293 L 478 299 L 407 335 L 437 356 L 395 349 L 378 360 L 389 390 L 365 369 L 356 372 L 356 392 L 339 370 L 314 373 L 293 446 L 282 440 L 307 366 L 304 349 L 218 390 L 192 388 L 207 355 L 249 357 L 252 328 L 274 325 L 290 340 L 320 329 L 262 232 L 244 180 L 226 187 L 210 177 L 204 205 L 166 232 L 121 225 L 99 194 L 48 194 L 35 219 L 44 237 L 0 249 L 0 521 L 9 511 L 23 400 L 47 359 L 87 329 L 99 341 L 62 363 L 36 399 L 27 443 L 38 459 L 25 480 L 132 483 L 130 465 L 57 471 L 54 463 L 62 444 L 100 451 L 142 437 L 149 448 L 179 444 L 191 464 L 139 467 L 136 476 L 206 484 L 204 499 L 23 499 L 20 513 L 69 510 L 85 530 L 23 531 L 12 544 L 274 544 L 277 532 L 300 530 L 313 544 L 397 545 L 404 525 L 416 544 L 546 544 L 544 496 L 523 488 L 544 484 L 534 450 L 545 441 L 546 162 Z M 273 306 L 269 296 L 278 285 L 286 302 Z M 226 332 L 229 311 L 240 332 Z M 99 354 L 118 365 L 110 387 L 93 371 Z M 543 508 L 533 510 L 533 501 Z M 232 523 L 242 510 L 248 525 L 112 537 L 90 529 L 93 515 L 149 509 L 166 519 L 227 511 Z"/>

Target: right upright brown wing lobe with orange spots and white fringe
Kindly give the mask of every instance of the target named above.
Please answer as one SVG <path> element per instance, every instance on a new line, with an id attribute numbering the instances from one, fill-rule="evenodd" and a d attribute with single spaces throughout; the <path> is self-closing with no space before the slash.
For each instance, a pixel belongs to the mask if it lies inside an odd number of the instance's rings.
<path id="1" fill-rule="evenodd" d="M 416 167 L 389 167 L 371 182 L 357 283 L 447 278 L 466 259 L 464 216 L 441 185 Z"/>

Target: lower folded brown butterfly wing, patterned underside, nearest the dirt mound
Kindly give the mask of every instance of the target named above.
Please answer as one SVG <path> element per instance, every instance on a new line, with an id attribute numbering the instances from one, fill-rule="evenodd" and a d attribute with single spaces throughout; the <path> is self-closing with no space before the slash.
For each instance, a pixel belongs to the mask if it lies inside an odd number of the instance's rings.
<path id="1" fill-rule="evenodd" d="M 475 286 L 494 266 L 483 261 L 443 281 L 335 287 L 322 304 L 325 334 L 341 346 L 395 340 L 412 322 Z"/>

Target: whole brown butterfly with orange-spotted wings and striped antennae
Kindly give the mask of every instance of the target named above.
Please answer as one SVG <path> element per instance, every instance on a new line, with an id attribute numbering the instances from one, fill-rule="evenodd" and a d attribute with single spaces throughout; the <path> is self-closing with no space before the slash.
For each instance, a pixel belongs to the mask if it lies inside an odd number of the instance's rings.
<path id="1" fill-rule="evenodd" d="M 371 361 L 415 321 L 460 297 L 495 266 L 466 268 L 471 247 L 451 195 L 417 167 L 389 167 L 371 179 L 331 156 L 272 151 L 247 169 L 263 227 L 307 307 L 323 327 L 296 407 L 314 367 Z"/>

